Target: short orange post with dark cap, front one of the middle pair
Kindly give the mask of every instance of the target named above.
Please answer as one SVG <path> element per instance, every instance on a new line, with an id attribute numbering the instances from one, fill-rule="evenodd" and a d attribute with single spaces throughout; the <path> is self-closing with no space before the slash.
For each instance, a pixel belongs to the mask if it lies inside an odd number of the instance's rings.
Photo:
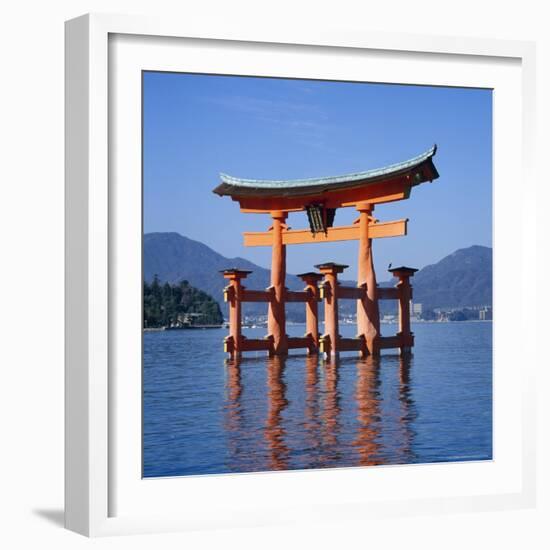
<path id="1" fill-rule="evenodd" d="M 320 339 L 320 350 L 330 359 L 337 357 L 339 352 L 338 274 L 348 266 L 329 262 L 315 267 L 325 276 L 321 287 L 321 298 L 325 301 L 325 332 Z"/>

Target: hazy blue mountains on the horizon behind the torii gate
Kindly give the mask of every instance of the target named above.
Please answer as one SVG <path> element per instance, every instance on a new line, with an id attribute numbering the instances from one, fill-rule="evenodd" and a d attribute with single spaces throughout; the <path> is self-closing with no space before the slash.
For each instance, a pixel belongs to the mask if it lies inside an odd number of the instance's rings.
<path id="1" fill-rule="evenodd" d="M 269 270 L 244 258 L 226 258 L 205 244 L 179 233 L 146 233 L 143 237 L 143 273 L 146 281 L 152 281 L 155 275 L 161 282 L 187 280 L 223 306 L 225 281 L 220 271 L 232 267 L 252 271 L 244 283 L 246 287 L 263 289 L 269 286 Z M 492 275 L 492 248 L 474 245 L 456 250 L 415 274 L 411 281 L 414 302 L 423 304 L 424 310 L 491 305 Z M 342 283 L 354 284 L 353 281 Z M 392 284 L 392 281 L 381 283 L 382 286 Z M 287 287 L 301 290 L 303 282 L 288 274 Z M 352 313 L 354 309 L 352 301 L 342 302 L 342 313 Z M 265 304 L 244 304 L 245 315 L 261 315 L 265 311 Z M 287 311 L 289 319 L 301 318 L 303 304 L 287 304 Z"/>

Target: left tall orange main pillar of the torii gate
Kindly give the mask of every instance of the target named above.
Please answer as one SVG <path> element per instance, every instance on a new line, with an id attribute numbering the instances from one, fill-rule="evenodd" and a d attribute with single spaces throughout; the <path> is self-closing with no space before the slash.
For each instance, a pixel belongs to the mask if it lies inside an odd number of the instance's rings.
<path id="1" fill-rule="evenodd" d="M 267 332 L 269 336 L 273 337 L 273 353 L 275 355 L 288 353 L 285 315 L 286 246 L 283 244 L 283 229 L 287 215 L 287 212 L 271 212 L 273 218 L 271 286 L 274 289 L 274 297 L 269 303 Z"/>

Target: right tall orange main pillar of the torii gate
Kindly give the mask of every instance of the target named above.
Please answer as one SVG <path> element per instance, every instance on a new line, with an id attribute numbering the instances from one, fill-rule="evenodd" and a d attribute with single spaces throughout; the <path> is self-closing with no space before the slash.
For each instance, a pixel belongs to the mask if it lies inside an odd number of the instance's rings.
<path id="1" fill-rule="evenodd" d="M 372 260 L 372 239 L 369 236 L 369 223 L 374 206 L 359 203 L 359 254 L 357 258 L 357 286 L 367 285 L 365 296 L 357 300 L 357 332 L 364 336 L 370 354 L 378 354 L 380 335 L 380 313 L 376 295 L 376 275 Z"/>

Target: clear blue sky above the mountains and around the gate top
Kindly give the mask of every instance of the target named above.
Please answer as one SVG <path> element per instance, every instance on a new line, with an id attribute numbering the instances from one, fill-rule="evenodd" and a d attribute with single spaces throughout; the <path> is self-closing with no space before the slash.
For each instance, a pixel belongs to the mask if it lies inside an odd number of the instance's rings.
<path id="1" fill-rule="evenodd" d="M 144 74 L 144 231 L 176 231 L 224 256 L 269 267 L 269 248 L 245 248 L 243 231 L 268 216 L 241 214 L 212 189 L 219 173 L 257 179 L 345 174 L 422 153 L 434 143 L 440 178 L 409 200 L 380 205 L 381 221 L 409 218 L 406 237 L 374 241 L 379 280 L 388 263 L 424 267 L 458 248 L 492 246 L 490 90 L 254 77 Z M 356 212 L 339 209 L 335 224 Z M 293 228 L 307 226 L 291 214 Z M 290 273 L 350 265 L 357 243 L 287 247 Z"/>

